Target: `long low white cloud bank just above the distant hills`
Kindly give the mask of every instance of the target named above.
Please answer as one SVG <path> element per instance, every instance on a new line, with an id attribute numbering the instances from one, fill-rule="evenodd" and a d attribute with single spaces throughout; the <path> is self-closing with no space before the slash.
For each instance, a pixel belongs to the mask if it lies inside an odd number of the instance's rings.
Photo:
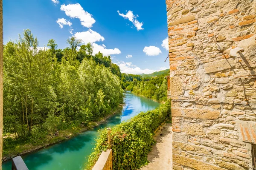
<path id="1" fill-rule="evenodd" d="M 116 64 L 119 66 L 122 73 L 128 73 L 128 74 L 143 74 L 143 73 L 151 74 L 155 71 L 161 71 L 161 70 L 167 69 L 166 67 L 162 67 L 159 70 L 151 70 L 148 68 L 141 69 L 138 66 L 133 65 L 131 62 L 123 62 L 123 61 L 117 62 Z"/>

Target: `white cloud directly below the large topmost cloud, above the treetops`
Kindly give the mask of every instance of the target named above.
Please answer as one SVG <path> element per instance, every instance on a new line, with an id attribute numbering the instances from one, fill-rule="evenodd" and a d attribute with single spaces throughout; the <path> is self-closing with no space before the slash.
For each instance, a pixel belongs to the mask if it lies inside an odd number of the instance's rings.
<path id="1" fill-rule="evenodd" d="M 97 33 L 96 31 L 93 31 L 91 29 L 89 29 L 88 31 L 84 31 L 84 32 L 76 32 L 75 37 L 77 39 L 81 39 L 84 42 L 84 44 L 87 44 L 88 42 L 93 43 L 96 41 L 104 41 L 105 40 L 104 37 L 102 37 L 99 33 Z"/>

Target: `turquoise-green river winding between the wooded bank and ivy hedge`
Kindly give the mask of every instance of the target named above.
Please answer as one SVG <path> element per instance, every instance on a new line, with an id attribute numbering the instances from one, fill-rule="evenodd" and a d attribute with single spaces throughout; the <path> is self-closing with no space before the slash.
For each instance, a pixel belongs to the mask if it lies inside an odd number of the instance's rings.
<path id="1" fill-rule="evenodd" d="M 67 141 L 22 156 L 29 170 L 83 170 L 99 129 L 120 124 L 136 116 L 140 111 L 152 110 L 160 105 L 160 103 L 130 92 L 125 94 L 124 102 L 122 113 L 111 116 L 104 124 Z M 3 162 L 2 168 L 11 170 L 11 161 Z"/>

